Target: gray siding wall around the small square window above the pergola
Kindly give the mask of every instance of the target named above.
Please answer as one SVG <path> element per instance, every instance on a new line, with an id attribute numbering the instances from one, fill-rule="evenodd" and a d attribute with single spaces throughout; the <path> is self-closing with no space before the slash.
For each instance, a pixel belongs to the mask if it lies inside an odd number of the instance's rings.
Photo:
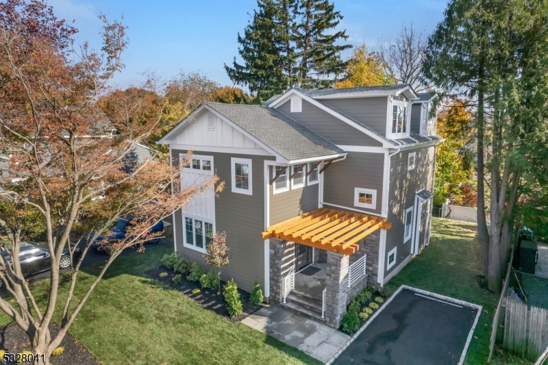
<path id="1" fill-rule="evenodd" d="M 349 152 L 323 172 L 323 202 L 381 214 L 384 153 Z M 354 188 L 377 190 L 376 209 L 354 206 Z"/>

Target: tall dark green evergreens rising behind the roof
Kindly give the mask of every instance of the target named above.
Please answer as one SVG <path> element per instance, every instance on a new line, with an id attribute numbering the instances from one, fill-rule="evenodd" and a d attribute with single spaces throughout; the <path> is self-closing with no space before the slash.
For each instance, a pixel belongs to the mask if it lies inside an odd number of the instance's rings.
<path id="1" fill-rule="evenodd" d="M 225 64 L 235 84 L 248 86 L 262 101 L 288 88 L 333 86 L 345 62 L 340 45 L 348 38 L 334 29 L 343 16 L 328 0 L 258 0 L 258 9 L 238 34 L 242 64 Z"/>

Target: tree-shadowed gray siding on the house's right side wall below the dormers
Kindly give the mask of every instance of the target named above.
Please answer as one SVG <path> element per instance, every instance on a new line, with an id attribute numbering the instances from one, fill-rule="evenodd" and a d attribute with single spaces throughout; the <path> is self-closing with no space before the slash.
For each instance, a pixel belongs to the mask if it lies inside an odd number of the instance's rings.
<path id="1" fill-rule="evenodd" d="M 412 238 L 405 236 L 406 210 L 415 202 L 415 193 L 422 189 L 432 192 L 434 184 L 435 146 L 401 151 L 390 158 L 390 185 L 388 186 L 388 222 L 392 228 L 386 231 L 385 277 L 411 254 Z M 415 152 L 415 168 L 407 170 L 409 153 Z M 388 253 L 397 247 L 396 263 L 387 270 Z"/>

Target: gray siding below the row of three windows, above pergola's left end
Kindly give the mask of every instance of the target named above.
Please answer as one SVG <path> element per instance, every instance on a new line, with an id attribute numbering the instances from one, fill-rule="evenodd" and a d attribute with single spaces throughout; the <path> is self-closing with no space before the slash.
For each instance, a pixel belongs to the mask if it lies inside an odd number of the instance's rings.
<path id="1" fill-rule="evenodd" d="M 273 179 L 274 168 L 270 168 L 270 179 Z M 289 183 L 291 189 L 291 183 Z M 273 194 L 274 184 L 269 186 L 270 225 L 287 221 L 318 207 L 319 184 L 304 186 L 286 192 Z"/>

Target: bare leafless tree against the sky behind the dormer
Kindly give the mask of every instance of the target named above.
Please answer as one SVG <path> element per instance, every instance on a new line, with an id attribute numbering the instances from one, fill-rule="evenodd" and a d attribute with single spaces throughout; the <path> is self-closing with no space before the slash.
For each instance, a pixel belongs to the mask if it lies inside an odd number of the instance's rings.
<path id="1" fill-rule="evenodd" d="M 384 73 L 400 84 L 410 84 L 416 92 L 429 88 L 423 78 L 426 36 L 413 23 L 403 25 L 396 38 L 379 42 L 379 60 Z"/>

